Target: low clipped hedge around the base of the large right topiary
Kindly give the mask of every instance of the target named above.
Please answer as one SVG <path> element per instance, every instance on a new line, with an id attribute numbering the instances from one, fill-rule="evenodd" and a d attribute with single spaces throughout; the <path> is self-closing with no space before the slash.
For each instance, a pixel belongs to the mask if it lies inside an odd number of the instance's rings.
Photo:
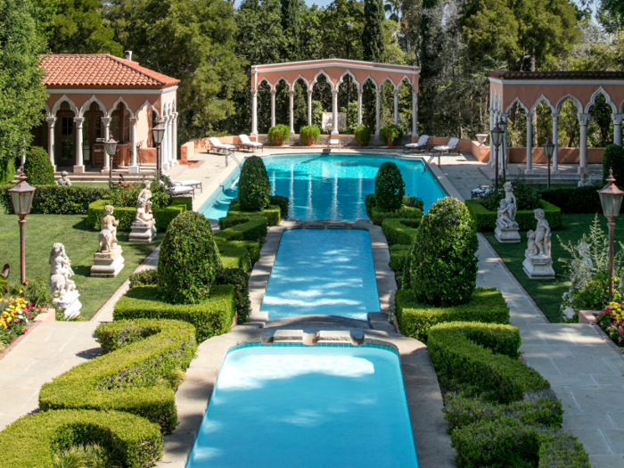
<path id="1" fill-rule="evenodd" d="M 496 288 L 476 288 L 468 304 L 450 308 L 419 304 L 414 291 L 402 289 L 395 295 L 394 306 L 401 333 L 420 341 L 427 341 L 432 326 L 446 322 L 509 324 L 509 308 Z"/>

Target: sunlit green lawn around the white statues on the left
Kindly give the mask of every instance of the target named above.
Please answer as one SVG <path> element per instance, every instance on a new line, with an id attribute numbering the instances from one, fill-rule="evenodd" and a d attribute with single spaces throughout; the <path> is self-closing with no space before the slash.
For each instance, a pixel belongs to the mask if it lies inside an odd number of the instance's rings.
<path id="1" fill-rule="evenodd" d="M 86 226 L 86 215 L 29 215 L 26 224 L 26 275 L 50 275 L 48 258 L 52 244 L 62 242 L 71 260 L 72 278 L 80 292 L 81 316 L 90 319 L 109 300 L 119 286 L 159 245 L 164 233 L 150 244 L 127 242 L 129 233 L 117 234 L 123 249 L 125 267 L 115 278 L 92 278 L 90 268 L 98 246 L 98 233 Z M 20 281 L 20 228 L 15 215 L 0 210 L 0 266 L 11 265 L 10 283 Z"/>

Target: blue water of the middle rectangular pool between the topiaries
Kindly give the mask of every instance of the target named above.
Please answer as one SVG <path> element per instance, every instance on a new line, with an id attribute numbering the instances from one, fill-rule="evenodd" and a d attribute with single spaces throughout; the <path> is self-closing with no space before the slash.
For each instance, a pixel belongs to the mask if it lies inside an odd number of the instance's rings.
<path id="1" fill-rule="evenodd" d="M 366 320 L 380 310 L 368 231 L 285 231 L 260 311 L 268 318 L 325 314 Z"/>

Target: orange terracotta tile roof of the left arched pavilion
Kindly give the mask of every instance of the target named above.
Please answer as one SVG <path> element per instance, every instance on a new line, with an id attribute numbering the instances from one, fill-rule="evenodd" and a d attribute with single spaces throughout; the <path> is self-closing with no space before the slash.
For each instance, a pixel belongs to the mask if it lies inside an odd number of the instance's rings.
<path id="1" fill-rule="evenodd" d="M 180 80 L 109 53 L 52 53 L 39 57 L 47 71 L 44 85 L 80 87 L 175 86 Z"/>

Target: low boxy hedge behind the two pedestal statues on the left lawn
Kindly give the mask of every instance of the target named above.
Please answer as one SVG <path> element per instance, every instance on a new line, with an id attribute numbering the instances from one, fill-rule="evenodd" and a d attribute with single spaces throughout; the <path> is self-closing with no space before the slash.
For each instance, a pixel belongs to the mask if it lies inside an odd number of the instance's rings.
<path id="1" fill-rule="evenodd" d="M 86 215 L 86 226 L 100 230 L 101 218 L 104 213 L 104 207 L 109 205 L 107 200 L 96 200 L 88 205 L 88 213 Z M 165 231 L 169 223 L 173 221 L 180 213 L 184 213 L 189 209 L 189 204 L 193 207 L 193 200 L 190 197 L 174 198 L 167 208 L 152 208 L 154 219 L 156 220 L 156 229 Z M 129 231 L 130 226 L 136 218 L 136 209 L 133 207 L 115 207 L 112 214 L 119 221 L 118 231 Z"/>

